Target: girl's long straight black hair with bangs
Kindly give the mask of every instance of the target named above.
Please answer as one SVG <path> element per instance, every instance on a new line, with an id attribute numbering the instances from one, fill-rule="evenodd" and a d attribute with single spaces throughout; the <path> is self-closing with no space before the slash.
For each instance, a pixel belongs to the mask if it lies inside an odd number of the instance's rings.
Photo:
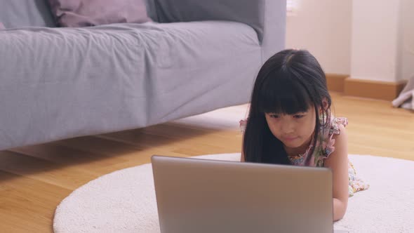
<path id="1" fill-rule="evenodd" d="M 291 164 L 283 143 L 270 131 L 265 113 L 296 114 L 307 112 L 310 107 L 314 107 L 316 114 L 313 146 L 309 152 L 313 154 L 322 124 L 330 121 L 330 104 L 325 73 L 311 53 L 288 49 L 273 55 L 255 79 L 243 137 L 245 161 Z"/>

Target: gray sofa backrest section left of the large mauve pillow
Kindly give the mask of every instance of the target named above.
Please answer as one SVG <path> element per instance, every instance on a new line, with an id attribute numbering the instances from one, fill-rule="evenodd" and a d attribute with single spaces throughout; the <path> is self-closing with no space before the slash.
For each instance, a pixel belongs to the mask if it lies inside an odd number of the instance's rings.
<path id="1" fill-rule="evenodd" d="M 6 28 L 55 27 L 47 0 L 0 0 L 0 22 Z"/>

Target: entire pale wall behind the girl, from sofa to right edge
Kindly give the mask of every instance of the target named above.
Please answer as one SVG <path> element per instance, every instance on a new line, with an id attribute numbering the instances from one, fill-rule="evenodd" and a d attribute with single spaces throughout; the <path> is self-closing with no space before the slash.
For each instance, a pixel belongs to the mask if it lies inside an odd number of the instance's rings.
<path id="1" fill-rule="evenodd" d="M 414 75 L 414 0 L 296 0 L 286 47 L 306 48 L 326 73 L 399 81 Z"/>

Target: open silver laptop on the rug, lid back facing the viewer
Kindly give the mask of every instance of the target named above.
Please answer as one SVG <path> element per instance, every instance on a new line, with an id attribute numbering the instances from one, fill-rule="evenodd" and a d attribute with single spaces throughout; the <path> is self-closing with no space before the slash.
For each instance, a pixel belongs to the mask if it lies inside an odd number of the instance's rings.
<path id="1" fill-rule="evenodd" d="M 162 233 L 333 232 L 328 168 L 153 156 L 152 169 Z"/>

